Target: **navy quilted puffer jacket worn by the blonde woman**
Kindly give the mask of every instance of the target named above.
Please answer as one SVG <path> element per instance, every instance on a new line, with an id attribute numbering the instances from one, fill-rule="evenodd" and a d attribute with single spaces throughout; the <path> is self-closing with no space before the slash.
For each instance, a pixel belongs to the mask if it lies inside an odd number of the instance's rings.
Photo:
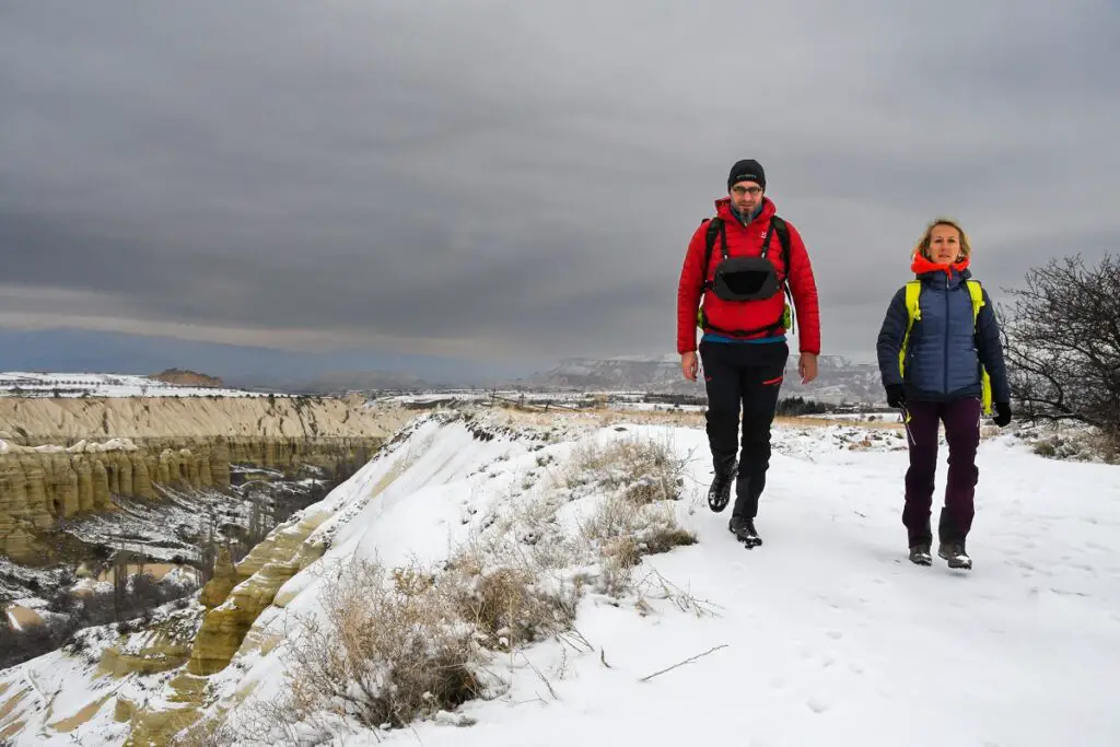
<path id="1" fill-rule="evenodd" d="M 972 298 L 964 281 L 965 268 L 917 274 L 921 319 L 914 323 L 907 343 L 906 379 L 898 373 L 898 351 L 906 334 L 906 289 L 899 288 L 887 308 L 876 345 L 884 386 L 904 384 L 907 400 L 946 401 L 979 398 L 981 363 L 991 377 L 992 402 L 1010 402 L 999 326 L 988 291 L 976 326 Z"/>

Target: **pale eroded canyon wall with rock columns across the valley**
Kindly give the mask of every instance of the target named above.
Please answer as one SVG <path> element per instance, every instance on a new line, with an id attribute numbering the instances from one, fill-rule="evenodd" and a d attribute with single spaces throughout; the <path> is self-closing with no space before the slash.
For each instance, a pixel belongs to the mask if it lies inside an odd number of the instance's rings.
<path id="1" fill-rule="evenodd" d="M 226 488 L 231 464 L 367 459 L 407 417 L 358 398 L 0 398 L 0 554 L 43 560 L 38 532 L 113 495 Z"/>

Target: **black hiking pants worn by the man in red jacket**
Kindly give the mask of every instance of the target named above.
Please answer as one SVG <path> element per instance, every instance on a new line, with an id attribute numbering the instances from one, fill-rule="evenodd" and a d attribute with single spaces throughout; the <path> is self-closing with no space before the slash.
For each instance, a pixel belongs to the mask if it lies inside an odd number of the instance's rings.
<path id="1" fill-rule="evenodd" d="M 754 519 L 766 487 L 771 426 L 785 375 L 790 346 L 781 343 L 712 343 L 701 340 L 700 360 L 708 389 L 708 445 L 716 470 L 739 455 L 731 516 Z M 739 440 L 739 414 L 743 437 Z"/>

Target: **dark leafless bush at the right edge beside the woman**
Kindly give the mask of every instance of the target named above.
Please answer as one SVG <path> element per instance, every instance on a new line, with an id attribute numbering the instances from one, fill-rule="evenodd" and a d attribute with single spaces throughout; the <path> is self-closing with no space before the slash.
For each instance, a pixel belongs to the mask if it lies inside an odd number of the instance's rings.
<path id="1" fill-rule="evenodd" d="M 1080 256 L 1027 273 L 1004 324 L 1011 394 L 1028 420 L 1074 420 L 1120 446 L 1120 261 Z"/>

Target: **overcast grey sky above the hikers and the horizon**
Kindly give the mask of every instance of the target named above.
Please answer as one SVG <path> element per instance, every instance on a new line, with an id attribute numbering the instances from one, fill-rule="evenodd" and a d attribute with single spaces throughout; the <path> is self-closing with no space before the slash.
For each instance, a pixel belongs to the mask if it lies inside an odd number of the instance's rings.
<path id="1" fill-rule="evenodd" d="M 1114 251 L 1118 38 L 1093 0 L 0 0 L 0 327 L 674 353 L 757 158 L 822 352 L 869 358 L 935 215 L 996 296 Z"/>

